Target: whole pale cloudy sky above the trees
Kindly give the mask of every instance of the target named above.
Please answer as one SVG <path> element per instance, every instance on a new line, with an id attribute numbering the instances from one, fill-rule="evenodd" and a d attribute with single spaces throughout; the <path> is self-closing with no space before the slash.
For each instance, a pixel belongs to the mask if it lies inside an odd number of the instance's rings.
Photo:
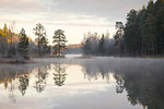
<path id="1" fill-rule="evenodd" d="M 0 27 L 15 21 L 14 32 L 22 27 L 35 39 L 33 28 L 42 23 L 52 41 L 54 32 L 63 29 L 68 44 L 80 44 L 87 32 L 115 33 L 117 21 L 126 22 L 131 9 L 139 10 L 149 0 L 0 0 Z"/>

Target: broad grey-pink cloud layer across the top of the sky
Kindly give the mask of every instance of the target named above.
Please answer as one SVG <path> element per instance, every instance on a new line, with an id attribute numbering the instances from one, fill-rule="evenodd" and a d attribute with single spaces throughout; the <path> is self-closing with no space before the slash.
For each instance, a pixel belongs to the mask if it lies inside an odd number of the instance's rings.
<path id="1" fill-rule="evenodd" d="M 131 9 L 140 9 L 148 0 L 0 0 L 0 14 L 15 19 L 62 23 L 109 25 L 125 20 Z M 66 22 L 67 21 L 67 22 Z M 103 23 L 103 24 L 102 24 Z"/>

